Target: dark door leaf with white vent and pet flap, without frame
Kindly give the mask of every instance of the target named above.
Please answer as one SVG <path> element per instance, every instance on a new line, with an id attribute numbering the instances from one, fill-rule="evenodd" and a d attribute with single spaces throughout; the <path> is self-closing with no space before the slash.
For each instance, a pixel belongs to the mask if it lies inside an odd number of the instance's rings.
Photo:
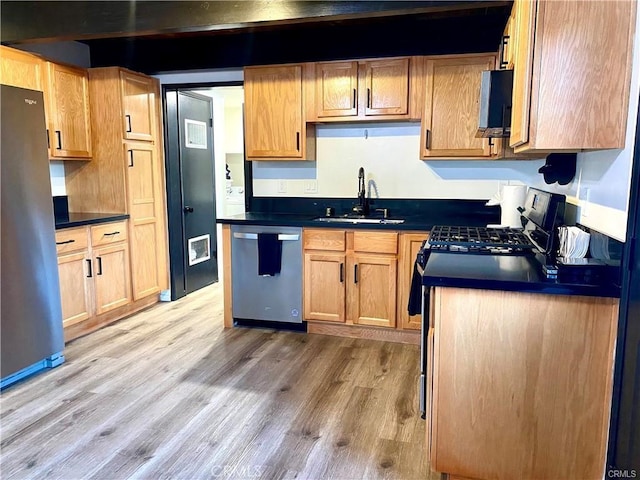
<path id="1" fill-rule="evenodd" d="M 213 107 L 209 97 L 178 92 L 185 290 L 218 280 L 213 171 Z"/>

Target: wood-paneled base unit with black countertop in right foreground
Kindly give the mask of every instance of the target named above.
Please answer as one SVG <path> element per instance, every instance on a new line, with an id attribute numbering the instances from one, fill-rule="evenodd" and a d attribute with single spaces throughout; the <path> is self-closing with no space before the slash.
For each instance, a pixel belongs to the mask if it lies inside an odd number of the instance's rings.
<path id="1" fill-rule="evenodd" d="M 602 478 L 619 288 L 547 279 L 533 255 L 452 253 L 431 254 L 423 285 L 432 470 Z"/>

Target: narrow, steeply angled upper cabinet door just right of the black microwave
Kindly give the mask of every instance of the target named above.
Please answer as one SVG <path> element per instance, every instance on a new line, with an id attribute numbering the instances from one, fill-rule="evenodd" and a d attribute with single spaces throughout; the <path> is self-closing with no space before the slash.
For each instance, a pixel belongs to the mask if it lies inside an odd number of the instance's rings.
<path id="1" fill-rule="evenodd" d="M 529 141 L 529 111 L 531 107 L 531 76 L 533 69 L 533 35 L 535 33 L 536 0 L 517 0 L 514 5 L 515 37 L 513 45 L 513 95 L 511 106 L 511 137 L 509 145 Z"/>

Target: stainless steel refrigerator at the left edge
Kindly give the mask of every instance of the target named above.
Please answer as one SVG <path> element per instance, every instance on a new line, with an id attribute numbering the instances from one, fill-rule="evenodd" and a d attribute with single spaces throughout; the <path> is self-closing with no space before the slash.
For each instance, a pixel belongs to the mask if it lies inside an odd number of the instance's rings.
<path id="1" fill-rule="evenodd" d="M 64 361 L 42 92 L 0 85 L 0 388 Z"/>

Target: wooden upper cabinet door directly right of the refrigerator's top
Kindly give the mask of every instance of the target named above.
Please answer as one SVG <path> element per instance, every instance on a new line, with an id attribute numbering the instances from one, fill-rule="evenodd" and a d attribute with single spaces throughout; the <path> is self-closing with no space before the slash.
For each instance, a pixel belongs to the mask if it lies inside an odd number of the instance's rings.
<path id="1" fill-rule="evenodd" d="M 49 143 L 54 158 L 91 158 L 89 76 L 81 68 L 47 63 Z"/>

